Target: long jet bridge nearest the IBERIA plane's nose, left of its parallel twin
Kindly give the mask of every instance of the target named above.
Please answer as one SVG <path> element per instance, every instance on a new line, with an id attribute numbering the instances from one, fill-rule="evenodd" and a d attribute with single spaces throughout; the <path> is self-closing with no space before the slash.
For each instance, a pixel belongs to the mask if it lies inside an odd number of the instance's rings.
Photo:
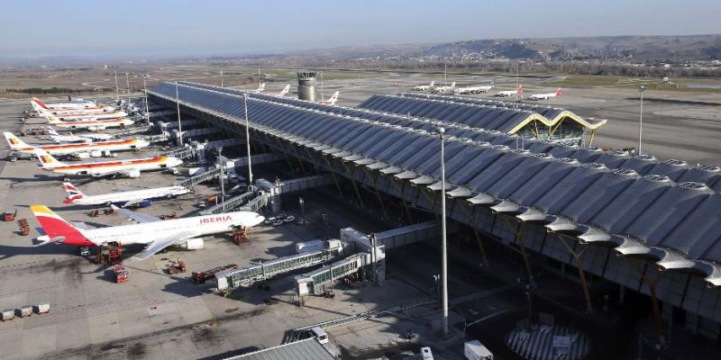
<path id="1" fill-rule="evenodd" d="M 315 266 L 333 260 L 343 253 L 343 244 L 340 240 L 328 240 L 326 248 L 310 253 L 280 257 L 254 266 L 241 269 L 228 270 L 215 275 L 218 291 L 232 291 L 239 287 L 249 287 L 257 282 L 268 280 L 271 277 L 286 274 L 293 270 Z M 336 269 L 336 274 L 341 270 Z"/>

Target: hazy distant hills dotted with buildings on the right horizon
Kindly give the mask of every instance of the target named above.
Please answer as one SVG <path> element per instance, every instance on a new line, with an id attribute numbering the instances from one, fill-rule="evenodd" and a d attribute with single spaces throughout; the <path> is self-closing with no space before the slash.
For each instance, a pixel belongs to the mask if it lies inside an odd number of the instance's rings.
<path id="1" fill-rule="evenodd" d="M 597 36 L 467 40 L 434 45 L 420 56 L 479 58 L 721 58 L 721 35 Z"/>

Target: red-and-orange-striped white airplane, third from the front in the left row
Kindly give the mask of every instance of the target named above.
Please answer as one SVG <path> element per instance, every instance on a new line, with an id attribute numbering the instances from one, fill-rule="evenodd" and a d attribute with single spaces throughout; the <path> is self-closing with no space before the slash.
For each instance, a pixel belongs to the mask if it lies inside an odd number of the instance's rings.
<path id="1" fill-rule="evenodd" d="M 42 148 L 35 149 L 35 156 L 40 159 L 42 170 L 52 171 L 64 175 L 78 176 L 105 176 L 127 175 L 140 177 L 141 171 L 164 170 L 180 166 L 183 160 L 178 157 L 159 156 L 145 158 L 131 158 L 112 161 L 98 161 L 81 164 L 65 164 L 48 154 Z"/>

